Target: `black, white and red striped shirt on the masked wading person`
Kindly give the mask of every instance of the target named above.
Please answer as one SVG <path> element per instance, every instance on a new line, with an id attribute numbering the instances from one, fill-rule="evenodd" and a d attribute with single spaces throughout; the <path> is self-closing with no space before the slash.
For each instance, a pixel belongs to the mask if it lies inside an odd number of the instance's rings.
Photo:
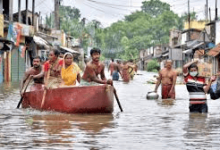
<path id="1" fill-rule="evenodd" d="M 184 75 L 186 88 L 189 92 L 190 104 L 206 104 L 206 94 L 203 87 L 205 84 L 204 77 L 197 77 L 195 80 L 191 75 Z"/>

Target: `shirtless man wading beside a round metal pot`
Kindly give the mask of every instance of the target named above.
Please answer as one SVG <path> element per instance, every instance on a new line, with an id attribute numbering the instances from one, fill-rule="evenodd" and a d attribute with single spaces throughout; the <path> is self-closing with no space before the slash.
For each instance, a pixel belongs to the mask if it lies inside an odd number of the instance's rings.
<path id="1" fill-rule="evenodd" d="M 172 60 L 166 60 L 165 68 L 159 71 L 159 78 L 156 83 L 155 92 L 162 82 L 161 95 L 162 99 L 175 99 L 175 84 L 177 73 L 172 69 Z"/>

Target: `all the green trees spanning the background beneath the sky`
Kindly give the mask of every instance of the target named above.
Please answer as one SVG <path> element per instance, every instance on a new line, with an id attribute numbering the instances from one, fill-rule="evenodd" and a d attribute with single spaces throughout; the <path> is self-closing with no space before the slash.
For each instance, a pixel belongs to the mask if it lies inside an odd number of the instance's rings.
<path id="1" fill-rule="evenodd" d="M 74 38 L 80 39 L 84 50 L 87 47 L 99 47 L 103 57 L 124 60 L 138 58 L 139 51 L 158 44 L 169 42 L 171 29 L 183 29 L 187 18 L 179 17 L 170 10 L 170 5 L 160 0 L 142 2 L 141 11 L 125 16 L 124 20 L 102 28 L 101 22 L 92 20 L 85 24 L 80 19 L 80 11 L 75 7 L 60 6 L 61 29 Z M 54 16 L 46 18 L 53 27 Z M 191 13 L 196 19 L 196 13 Z M 53 21 L 51 21 L 53 20 Z"/>

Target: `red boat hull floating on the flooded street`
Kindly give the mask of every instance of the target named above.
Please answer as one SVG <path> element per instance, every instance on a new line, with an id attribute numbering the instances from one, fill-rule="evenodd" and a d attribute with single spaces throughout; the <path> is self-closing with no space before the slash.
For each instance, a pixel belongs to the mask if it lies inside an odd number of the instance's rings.
<path id="1" fill-rule="evenodd" d="M 23 108 L 59 111 L 65 113 L 112 113 L 113 87 L 109 85 L 75 86 L 49 89 L 41 108 L 44 90 L 35 86 L 24 93 Z"/>

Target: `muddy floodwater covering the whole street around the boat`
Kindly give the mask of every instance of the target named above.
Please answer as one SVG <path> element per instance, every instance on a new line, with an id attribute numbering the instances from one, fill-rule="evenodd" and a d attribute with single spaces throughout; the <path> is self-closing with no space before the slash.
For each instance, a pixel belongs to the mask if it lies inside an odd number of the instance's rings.
<path id="1" fill-rule="evenodd" d="M 209 113 L 190 114 L 184 85 L 175 101 L 146 100 L 152 73 L 139 72 L 128 84 L 115 82 L 121 105 L 112 114 L 64 114 L 15 109 L 17 84 L 0 90 L 0 149 L 192 150 L 220 149 L 220 101 Z"/>

